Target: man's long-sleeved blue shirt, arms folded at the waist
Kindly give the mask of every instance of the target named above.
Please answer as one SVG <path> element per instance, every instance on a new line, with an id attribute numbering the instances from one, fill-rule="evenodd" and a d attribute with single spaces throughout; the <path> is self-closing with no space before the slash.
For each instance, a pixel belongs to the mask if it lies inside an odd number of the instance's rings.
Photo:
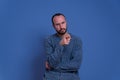
<path id="1" fill-rule="evenodd" d="M 82 60 L 82 42 L 70 34 L 68 45 L 59 44 L 61 37 L 53 34 L 45 41 L 45 52 L 49 65 L 56 71 L 76 71 L 80 68 Z"/>

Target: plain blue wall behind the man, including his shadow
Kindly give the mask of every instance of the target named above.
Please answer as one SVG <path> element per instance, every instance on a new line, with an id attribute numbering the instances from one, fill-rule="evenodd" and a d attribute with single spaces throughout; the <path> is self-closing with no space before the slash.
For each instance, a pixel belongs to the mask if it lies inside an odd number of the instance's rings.
<path id="1" fill-rule="evenodd" d="M 119 0 L 0 0 L 0 80 L 42 80 L 56 12 L 83 41 L 81 80 L 120 80 Z"/>

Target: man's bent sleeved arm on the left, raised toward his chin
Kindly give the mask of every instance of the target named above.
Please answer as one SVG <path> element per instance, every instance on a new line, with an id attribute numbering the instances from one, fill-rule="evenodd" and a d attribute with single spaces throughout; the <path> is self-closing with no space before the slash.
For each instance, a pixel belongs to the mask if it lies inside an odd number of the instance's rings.
<path id="1" fill-rule="evenodd" d="M 46 39 L 45 41 L 45 52 L 47 55 L 47 62 L 49 63 L 50 67 L 55 68 L 60 61 L 62 56 L 63 46 L 59 43 L 56 45 L 55 48 L 52 46 L 52 42 L 50 39 Z"/>

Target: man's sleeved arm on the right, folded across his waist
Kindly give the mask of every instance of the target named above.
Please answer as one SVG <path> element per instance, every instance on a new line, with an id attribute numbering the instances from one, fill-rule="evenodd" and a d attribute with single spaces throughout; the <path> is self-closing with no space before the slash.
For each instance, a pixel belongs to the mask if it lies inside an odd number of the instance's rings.
<path id="1" fill-rule="evenodd" d="M 73 58 L 66 62 L 65 64 L 61 65 L 61 69 L 68 69 L 68 70 L 77 70 L 80 68 L 80 64 L 82 61 L 82 42 L 80 40 L 75 41 L 75 46 L 72 51 Z"/>

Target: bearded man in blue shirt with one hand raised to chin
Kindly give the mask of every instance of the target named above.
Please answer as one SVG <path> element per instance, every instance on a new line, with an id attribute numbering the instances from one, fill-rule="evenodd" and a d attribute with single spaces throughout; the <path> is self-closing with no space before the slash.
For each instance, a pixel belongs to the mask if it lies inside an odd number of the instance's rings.
<path id="1" fill-rule="evenodd" d="M 66 18 L 61 13 L 52 16 L 57 33 L 45 41 L 45 80 L 80 80 L 78 69 L 82 59 L 81 40 L 67 31 Z"/>

